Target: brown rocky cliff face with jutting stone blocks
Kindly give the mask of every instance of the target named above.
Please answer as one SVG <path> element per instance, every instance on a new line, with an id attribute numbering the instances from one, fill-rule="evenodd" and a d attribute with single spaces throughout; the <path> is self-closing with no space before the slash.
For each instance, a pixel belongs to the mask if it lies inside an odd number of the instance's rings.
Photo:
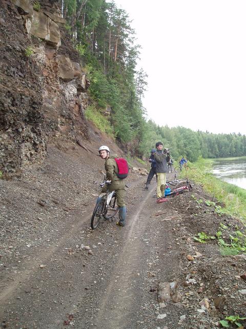
<path id="1" fill-rule="evenodd" d="M 0 4 L 0 171 L 44 159 L 50 140 L 88 138 L 89 81 L 55 1 Z"/>

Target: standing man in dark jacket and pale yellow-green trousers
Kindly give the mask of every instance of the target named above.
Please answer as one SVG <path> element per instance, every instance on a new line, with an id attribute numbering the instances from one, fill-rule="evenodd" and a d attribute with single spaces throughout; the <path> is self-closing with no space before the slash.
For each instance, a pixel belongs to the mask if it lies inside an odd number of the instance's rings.
<path id="1" fill-rule="evenodd" d="M 166 174 L 168 171 L 168 162 L 170 161 L 169 150 L 163 149 L 162 142 L 155 144 L 156 152 L 154 153 L 154 159 L 156 160 L 156 173 L 157 173 L 157 203 L 165 202 L 165 188 L 166 188 Z"/>

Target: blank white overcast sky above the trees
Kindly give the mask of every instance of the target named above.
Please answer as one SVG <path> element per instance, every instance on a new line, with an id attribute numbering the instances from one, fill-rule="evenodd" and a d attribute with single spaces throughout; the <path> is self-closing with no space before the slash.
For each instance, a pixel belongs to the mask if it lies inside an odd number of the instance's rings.
<path id="1" fill-rule="evenodd" d="M 246 134 L 246 1 L 115 0 L 133 20 L 148 118 Z"/>

